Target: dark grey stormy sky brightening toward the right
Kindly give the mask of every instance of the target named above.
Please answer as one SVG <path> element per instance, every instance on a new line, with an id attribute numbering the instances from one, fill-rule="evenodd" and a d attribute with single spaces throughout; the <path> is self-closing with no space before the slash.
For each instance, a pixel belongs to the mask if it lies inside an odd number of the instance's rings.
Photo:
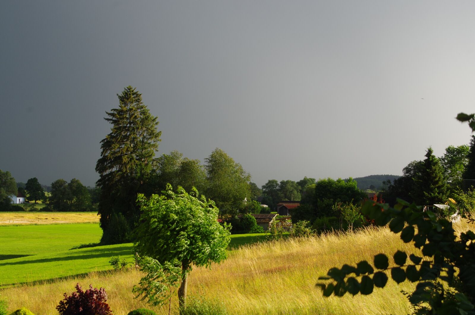
<path id="1" fill-rule="evenodd" d="M 0 169 L 94 186 L 136 87 L 159 152 L 222 148 L 268 179 L 401 175 L 468 144 L 474 1 L 4 1 Z"/>

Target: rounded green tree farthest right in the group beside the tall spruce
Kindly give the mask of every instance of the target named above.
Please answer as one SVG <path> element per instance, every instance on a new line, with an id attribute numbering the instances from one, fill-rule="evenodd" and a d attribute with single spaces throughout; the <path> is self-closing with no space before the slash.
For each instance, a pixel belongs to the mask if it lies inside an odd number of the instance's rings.
<path id="1" fill-rule="evenodd" d="M 220 214 L 236 215 L 245 200 L 251 199 L 251 175 L 220 148 L 214 149 L 205 162 L 208 197 L 216 202 Z"/>

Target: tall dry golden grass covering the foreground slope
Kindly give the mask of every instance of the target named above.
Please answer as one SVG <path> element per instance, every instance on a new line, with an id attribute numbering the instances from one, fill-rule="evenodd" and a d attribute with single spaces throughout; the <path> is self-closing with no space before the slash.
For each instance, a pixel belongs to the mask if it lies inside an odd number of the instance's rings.
<path id="1" fill-rule="evenodd" d="M 466 231 L 468 225 L 462 222 L 456 229 Z M 218 298 L 229 314 L 408 314 L 409 302 L 400 291 L 412 292 L 415 285 L 409 282 L 397 285 L 389 280 L 384 289 L 375 288 L 371 295 L 341 298 L 325 298 L 315 287 L 318 277 L 333 266 L 372 261 L 378 253 L 392 256 L 398 249 L 420 254 L 387 227 L 243 246 L 211 269 L 195 267 L 188 292 Z M 141 276 L 136 270 L 94 273 L 81 279 L 7 288 L 0 294 L 8 299 L 11 310 L 26 306 L 35 314 L 55 314 L 62 294 L 71 293 L 76 282 L 83 287 L 92 284 L 106 289 L 114 314 L 127 314 L 135 308 L 150 308 L 131 292 Z M 174 296 L 172 310 L 176 311 L 177 304 Z M 154 310 L 168 314 L 168 305 Z"/>

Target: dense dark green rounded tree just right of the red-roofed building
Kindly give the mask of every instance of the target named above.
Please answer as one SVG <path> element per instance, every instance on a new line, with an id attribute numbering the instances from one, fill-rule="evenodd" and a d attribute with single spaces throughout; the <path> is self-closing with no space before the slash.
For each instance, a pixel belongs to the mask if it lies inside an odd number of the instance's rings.
<path id="1" fill-rule="evenodd" d="M 332 207 L 335 203 L 351 202 L 356 204 L 364 197 L 366 197 L 366 194 L 358 189 L 357 183 L 352 177 L 347 180 L 342 178 L 334 180 L 330 177 L 320 179 L 315 184 L 315 216 L 331 216 L 333 212 Z"/>

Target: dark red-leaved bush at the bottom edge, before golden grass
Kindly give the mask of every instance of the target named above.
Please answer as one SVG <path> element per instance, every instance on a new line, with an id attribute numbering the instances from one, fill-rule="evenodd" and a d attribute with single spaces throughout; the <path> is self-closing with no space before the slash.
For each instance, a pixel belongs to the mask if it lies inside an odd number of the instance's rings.
<path id="1" fill-rule="evenodd" d="M 64 294 L 64 299 L 59 301 L 56 309 L 59 315 L 112 315 L 109 305 L 106 303 L 107 295 L 104 288 L 97 290 L 89 285 L 89 289 L 83 291 L 76 284 L 76 292 L 71 295 Z"/>

